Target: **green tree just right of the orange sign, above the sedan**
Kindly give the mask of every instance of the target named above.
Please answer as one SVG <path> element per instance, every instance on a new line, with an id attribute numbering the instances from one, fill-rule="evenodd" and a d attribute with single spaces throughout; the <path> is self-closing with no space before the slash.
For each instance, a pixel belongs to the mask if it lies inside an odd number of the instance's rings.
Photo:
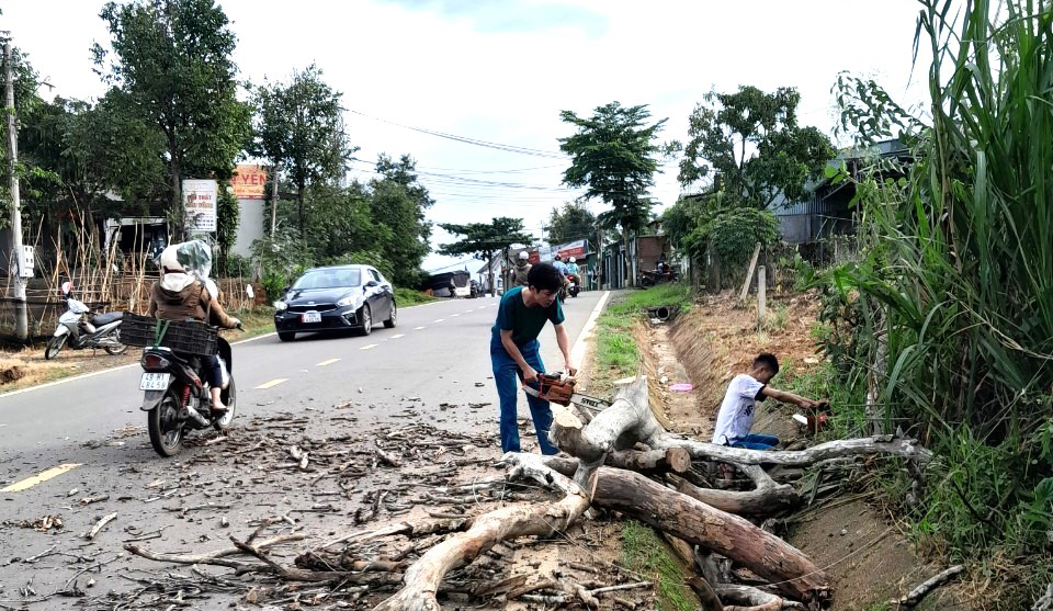
<path id="1" fill-rule="evenodd" d="M 264 84 L 253 93 L 252 150 L 281 168 L 295 188 L 301 237 L 308 225 L 304 199 L 308 185 L 343 177 L 358 150 L 343 129 L 341 97 L 321 80 L 321 70 L 314 64 L 294 72 L 288 84 Z"/>

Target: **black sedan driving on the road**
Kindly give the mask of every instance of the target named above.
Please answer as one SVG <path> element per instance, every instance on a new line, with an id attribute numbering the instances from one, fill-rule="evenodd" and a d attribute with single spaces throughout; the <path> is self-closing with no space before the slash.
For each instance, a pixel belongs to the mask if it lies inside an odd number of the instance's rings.
<path id="1" fill-rule="evenodd" d="M 392 283 L 370 265 L 335 265 L 304 272 L 274 302 L 274 330 L 282 341 L 297 332 L 373 331 L 377 320 L 388 329 L 397 323 Z"/>

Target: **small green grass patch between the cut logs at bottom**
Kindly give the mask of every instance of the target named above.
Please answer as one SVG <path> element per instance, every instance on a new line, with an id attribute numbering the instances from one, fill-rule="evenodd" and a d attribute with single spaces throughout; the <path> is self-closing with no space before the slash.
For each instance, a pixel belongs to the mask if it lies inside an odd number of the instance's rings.
<path id="1" fill-rule="evenodd" d="M 656 611 L 694 611 L 701 604 L 688 575 L 654 529 L 635 520 L 622 527 L 622 564 L 655 584 Z"/>

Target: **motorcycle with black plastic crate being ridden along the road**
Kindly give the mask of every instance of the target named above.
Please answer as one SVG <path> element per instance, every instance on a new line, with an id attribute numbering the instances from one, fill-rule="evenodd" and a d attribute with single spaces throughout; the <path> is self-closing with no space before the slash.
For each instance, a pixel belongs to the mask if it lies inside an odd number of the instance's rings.
<path id="1" fill-rule="evenodd" d="M 157 324 L 149 318 L 145 318 L 145 321 L 151 328 Z M 141 323 L 136 320 L 136 324 L 138 326 Z M 168 340 L 170 346 L 179 346 L 179 333 L 197 336 L 199 342 L 202 335 L 215 338 L 214 344 L 206 341 L 204 344 L 207 348 L 195 352 L 208 352 L 212 346 L 216 347 L 223 369 L 220 398 L 227 409 L 212 410 L 211 389 L 204 371 L 208 362 L 206 355 L 177 352 L 169 346 L 156 346 L 159 343 L 157 341 L 154 342 L 155 346 L 144 347 L 143 359 L 139 361 L 143 367 L 143 376 L 139 378 L 139 389 L 144 393 L 141 409 L 147 412 L 146 428 L 150 434 L 150 443 L 154 450 L 165 457 L 178 454 L 183 439 L 191 431 L 212 427 L 225 432 L 237 409 L 234 359 L 227 340 L 218 337 L 216 329 L 204 323 L 172 321 L 166 326 L 165 333 L 172 332 L 177 337 Z"/>

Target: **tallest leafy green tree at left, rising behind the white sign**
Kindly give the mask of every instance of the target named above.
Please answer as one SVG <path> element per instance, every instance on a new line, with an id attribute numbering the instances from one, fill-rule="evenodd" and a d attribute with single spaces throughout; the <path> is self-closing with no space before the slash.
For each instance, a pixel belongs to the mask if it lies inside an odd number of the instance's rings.
<path id="1" fill-rule="evenodd" d="M 234 32 L 213 0 L 109 2 L 100 16 L 113 57 L 95 44 L 98 71 L 163 137 L 170 214 L 181 225 L 183 177 L 229 179 L 251 134 L 249 106 L 237 99 Z"/>

